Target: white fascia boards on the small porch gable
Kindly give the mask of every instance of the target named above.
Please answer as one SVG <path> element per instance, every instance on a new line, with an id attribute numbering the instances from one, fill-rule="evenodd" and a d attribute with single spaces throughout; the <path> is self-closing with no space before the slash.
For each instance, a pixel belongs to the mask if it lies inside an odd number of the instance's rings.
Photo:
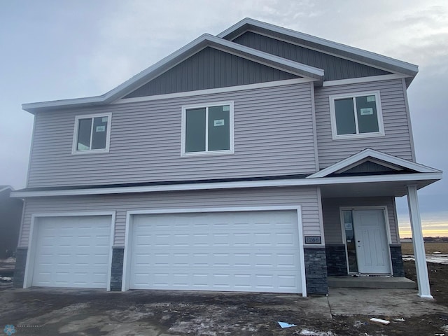
<path id="1" fill-rule="evenodd" d="M 351 155 L 351 157 L 349 158 L 346 158 L 342 161 L 335 163 L 335 165 L 322 169 L 321 171 L 316 172 L 310 176 L 307 176 L 307 179 L 316 179 L 328 176 L 329 174 L 335 173 L 341 169 L 349 167 L 354 163 L 359 162 L 360 160 L 363 160 L 365 158 L 375 158 L 377 160 L 390 163 L 392 165 L 397 165 L 405 167 L 407 169 L 415 170 L 416 172 L 419 173 L 440 173 L 440 170 L 427 167 L 416 162 L 411 162 L 402 158 L 397 158 L 390 154 L 374 151 L 372 148 L 367 148 L 364 151 L 360 151 L 359 153 Z"/>

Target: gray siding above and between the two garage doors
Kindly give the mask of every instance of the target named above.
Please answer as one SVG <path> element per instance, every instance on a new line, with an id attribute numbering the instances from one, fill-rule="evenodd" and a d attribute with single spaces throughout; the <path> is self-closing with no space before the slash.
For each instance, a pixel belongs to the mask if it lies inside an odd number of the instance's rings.
<path id="1" fill-rule="evenodd" d="M 126 211 L 154 209 L 206 209 L 223 207 L 302 207 L 304 235 L 323 235 L 319 221 L 318 192 L 310 188 L 251 188 L 188 192 L 138 193 L 27 199 L 19 246 L 28 246 L 31 216 L 48 213 L 116 211 L 114 245 L 124 246 Z"/>

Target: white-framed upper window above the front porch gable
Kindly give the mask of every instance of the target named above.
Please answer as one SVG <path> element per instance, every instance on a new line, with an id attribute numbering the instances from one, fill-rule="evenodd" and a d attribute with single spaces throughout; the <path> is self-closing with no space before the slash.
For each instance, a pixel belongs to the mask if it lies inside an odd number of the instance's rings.
<path id="1" fill-rule="evenodd" d="M 384 136 L 379 91 L 330 96 L 333 139 Z"/>

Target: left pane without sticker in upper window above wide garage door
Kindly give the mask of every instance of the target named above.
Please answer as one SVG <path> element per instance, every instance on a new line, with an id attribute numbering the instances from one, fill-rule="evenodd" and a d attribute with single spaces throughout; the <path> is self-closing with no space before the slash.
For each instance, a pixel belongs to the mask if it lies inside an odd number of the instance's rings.
<path id="1" fill-rule="evenodd" d="M 186 153 L 205 151 L 205 108 L 186 111 Z"/>

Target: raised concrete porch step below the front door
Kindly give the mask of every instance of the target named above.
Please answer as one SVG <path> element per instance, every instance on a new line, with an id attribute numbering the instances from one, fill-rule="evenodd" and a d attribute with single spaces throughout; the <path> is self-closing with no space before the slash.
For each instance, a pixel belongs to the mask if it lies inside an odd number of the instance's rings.
<path id="1" fill-rule="evenodd" d="M 399 276 L 328 276 L 330 288 L 415 289 L 416 283 Z"/>

